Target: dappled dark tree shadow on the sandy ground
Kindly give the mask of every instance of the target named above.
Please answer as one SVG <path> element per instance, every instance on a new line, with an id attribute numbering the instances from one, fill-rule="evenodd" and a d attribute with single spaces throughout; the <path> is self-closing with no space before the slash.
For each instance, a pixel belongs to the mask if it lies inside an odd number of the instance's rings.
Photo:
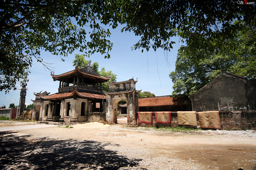
<path id="1" fill-rule="evenodd" d="M 116 145 L 90 140 L 77 141 L 40 138 L 0 132 L 0 169 L 118 170 L 139 165 L 142 159 L 128 159 L 105 149 Z"/>

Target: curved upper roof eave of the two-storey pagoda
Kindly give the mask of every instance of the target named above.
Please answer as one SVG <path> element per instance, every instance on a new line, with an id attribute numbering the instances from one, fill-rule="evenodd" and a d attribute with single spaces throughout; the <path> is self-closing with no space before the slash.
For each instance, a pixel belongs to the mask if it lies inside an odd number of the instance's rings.
<path id="1" fill-rule="evenodd" d="M 104 80 L 105 82 L 107 82 L 109 79 L 111 79 L 111 77 L 103 77 L 103 76 L 96 76 L 96 75 L 93 75 L 93 74 L 88 74 L 88 73 L 84 73 L 82 72 L 78 66 L 76 66 L 75 70 L 72 70 L 72 71 L 68 71 L 66 73 L 63 73 L 63 74 L 59 74 L 59 75 L 54 75 L 51 73 L 51 76 L 54 80 L 58 80 L 58 79 L 61 79 L 62 77 L 67 77 L 68 75 L 71 75 L 71 74 L 74 74 L 74 73 L 79 73 L 79 74 L 82 74 L 84 76 L 88 76 L 88 77 L 92 77 L 92 78 L 96 78 L 96 79 L 102 79 Z"/>

